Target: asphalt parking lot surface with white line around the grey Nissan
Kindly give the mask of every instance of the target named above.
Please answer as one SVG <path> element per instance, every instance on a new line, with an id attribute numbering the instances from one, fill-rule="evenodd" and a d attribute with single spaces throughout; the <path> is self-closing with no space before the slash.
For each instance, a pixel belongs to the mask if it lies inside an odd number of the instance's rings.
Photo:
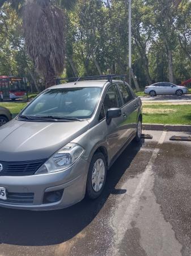
<path id="1" fill-rule="evenodd" d="M 0 255 L 191 255 L 191 143 L 132 142 L 103 196 L 51 212 L 0 208 Z"/>

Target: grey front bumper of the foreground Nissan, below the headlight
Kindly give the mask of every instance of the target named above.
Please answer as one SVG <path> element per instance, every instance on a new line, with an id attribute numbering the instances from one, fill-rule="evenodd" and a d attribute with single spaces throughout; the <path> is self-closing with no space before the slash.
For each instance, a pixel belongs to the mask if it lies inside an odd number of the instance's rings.
<path id="1" fill-rule="evenodd" d="M 1 176 L 0 187 L 11 195 L 16 193 L 32 195 L 32 203 L 9 203 L 0 201 L 0 207 L 26 210 L 54 210 L 69 207 L 81 201 L 86 192 L 88 162 L 79 159 L 74 166 L 53 174 L 31 176 Z M 63 189 L 60 201 L 43 203 L 45 192 Z M 17 198 L 17 197 L 15 197 Z"/>

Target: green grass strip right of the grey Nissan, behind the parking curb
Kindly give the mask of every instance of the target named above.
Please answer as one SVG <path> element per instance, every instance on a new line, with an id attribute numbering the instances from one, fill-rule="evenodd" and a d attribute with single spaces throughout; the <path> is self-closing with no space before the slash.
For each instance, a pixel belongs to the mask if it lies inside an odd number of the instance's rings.
<path id="1" fill-rule="evenodd" d="M 143 104 L 143 123 L 191 125 L 191 105 Z"/>

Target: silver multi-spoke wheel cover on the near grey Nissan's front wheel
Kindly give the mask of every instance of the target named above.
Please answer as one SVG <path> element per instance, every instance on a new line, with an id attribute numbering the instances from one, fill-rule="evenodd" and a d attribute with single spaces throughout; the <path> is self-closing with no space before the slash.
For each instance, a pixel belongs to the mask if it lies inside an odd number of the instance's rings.
<path id="1" fill-rule="evenodd" d="M 99 192 L 103 187 L 105 180 L 105 164 L 100 158 L 97 159 L 92 171 L 92 188 L 95 192 Z"/>

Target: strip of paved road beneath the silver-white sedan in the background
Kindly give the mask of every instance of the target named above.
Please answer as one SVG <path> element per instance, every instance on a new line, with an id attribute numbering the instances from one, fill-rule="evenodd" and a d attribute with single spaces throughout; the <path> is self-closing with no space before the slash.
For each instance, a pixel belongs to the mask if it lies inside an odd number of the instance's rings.
<path id="1" fill-rule="evenodd" d="M 191 94 L 183 94 L 182 96 L 176 95 L 158 95 L 156 97 L 143 96 L 142 101 L 154 101 L 154 102 L 191 102 Z"/>

